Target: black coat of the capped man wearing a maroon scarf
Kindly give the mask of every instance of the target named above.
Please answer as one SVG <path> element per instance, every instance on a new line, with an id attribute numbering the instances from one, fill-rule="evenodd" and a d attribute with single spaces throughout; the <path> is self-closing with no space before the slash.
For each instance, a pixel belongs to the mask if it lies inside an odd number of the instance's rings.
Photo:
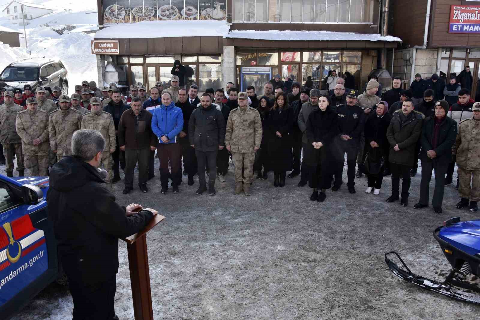
<path id="1" fill-rule="evenodd" d="M 433 143 L 433 129 L 439 125 L 437 136 L 437 148 L 432 147 Z M 420 142 L 421 150 L 419 158 L 423 161 L 435 161 L 438 164 L 449 164 L 452 162 L 452 146 L 456 139 L 456 121 L 445 116 L 444 120 L 437 124 L 435 123 L 435 116 L 425 118 L 423 121 L 423 128 L 421 131 Z M 437 156 L 433 159 L 427 157 L 427 151 L 433 150 Z"/>

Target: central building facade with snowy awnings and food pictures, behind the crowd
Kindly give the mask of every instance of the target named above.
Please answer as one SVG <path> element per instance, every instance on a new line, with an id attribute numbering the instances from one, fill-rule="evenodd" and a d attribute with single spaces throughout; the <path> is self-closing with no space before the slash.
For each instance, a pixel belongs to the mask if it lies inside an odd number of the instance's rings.
<path id="1" fill-rule="evenodd" d="M 233 82 L 261 94 L 276 74 L 324 90 L 332 70 L 359 89 L 379 50 L 400 42 L 380 36 L 380 9 L 376 0 L 98 0 L 95 41 L 118 41 L 115 54 L 96 52 L 99 82 L 120 71 L 119 84 L 168 87 L 180 60 L 185 84 L 200 91 Z"/>

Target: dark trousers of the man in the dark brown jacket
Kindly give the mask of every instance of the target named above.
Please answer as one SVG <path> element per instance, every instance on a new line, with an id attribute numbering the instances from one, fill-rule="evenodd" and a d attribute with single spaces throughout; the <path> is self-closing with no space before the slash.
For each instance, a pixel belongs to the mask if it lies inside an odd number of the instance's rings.
<path id="1" fill-rule="evenodd" d="M 125 148 L 125 186 L 133 187 L 133 172 L 138 161 L 138 185 L 148 180 L 148 157 L 150 148 L 128 149 Z"/>

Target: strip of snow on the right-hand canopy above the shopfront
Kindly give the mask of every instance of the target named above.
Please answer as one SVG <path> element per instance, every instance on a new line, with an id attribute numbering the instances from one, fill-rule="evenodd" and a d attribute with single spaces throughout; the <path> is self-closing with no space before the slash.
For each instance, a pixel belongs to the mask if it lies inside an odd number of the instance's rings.
<path id="1" fill-rule="evenodd" d="M 279 30 L 231 30 L 226 38 L 254 39 L 254 40 L 367 40 L 367 41 L 399 41 L 398 37 L 382 37 L 377 33 L 348 33 L 334 31 L 279 31 Z"/>

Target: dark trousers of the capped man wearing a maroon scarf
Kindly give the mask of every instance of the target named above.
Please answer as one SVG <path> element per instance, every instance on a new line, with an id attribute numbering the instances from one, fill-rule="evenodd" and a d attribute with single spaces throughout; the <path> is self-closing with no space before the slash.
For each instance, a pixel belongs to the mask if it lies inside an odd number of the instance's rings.
<path id="1" fill-rule="evenodd" d="M 432 179 L 432 170 L 435 170 L 435 189 L 433 191 L 432 206 L 442 207 L 444 200 L 445 172 L 448 164 L 438 164 L 437 161 L 421 160 L 421 181 L 420 181 L 420 201 L 419 203 L 428 205 L 430 196 L 430 180 Z"/>

